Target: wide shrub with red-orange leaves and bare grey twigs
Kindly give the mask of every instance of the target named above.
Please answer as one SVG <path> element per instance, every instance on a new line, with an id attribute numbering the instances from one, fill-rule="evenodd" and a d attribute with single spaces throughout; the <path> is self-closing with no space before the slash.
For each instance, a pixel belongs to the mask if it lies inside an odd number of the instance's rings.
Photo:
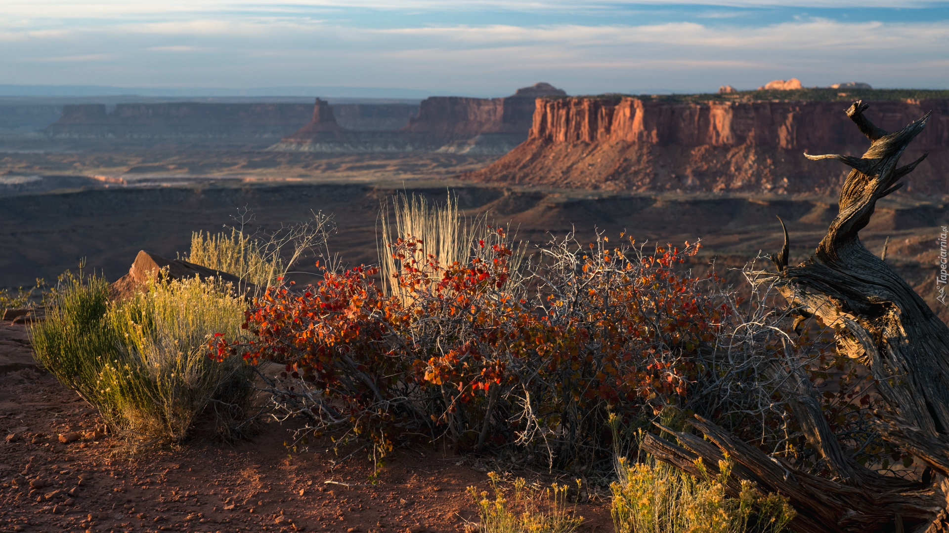
<path id="1" fill-rule="evenodd" d="M 396 294 L 371 267 L 327 272 L 303 291 L 270 287 L 247 312 L 250 342 L 209 347 L 286 365 L 270 381 L 274 401 L 311 421 L 294 444 L 333 432 L 389 449 L 423 433 L 579 468 L 610 461 L 610 413 L 627 428 L 698 413 L 765 450 L 792 450 L 783 377 L 766 372 L 801 359 L 775 327 L 783 317 L 715 275 L 691 276 L 683 263 L 696 244 L 634 245 L 568 236 L 513 268 L 507 235 L 493 230 L 466 264 L 443 266 L 407 235 L 390 250 Z"/>

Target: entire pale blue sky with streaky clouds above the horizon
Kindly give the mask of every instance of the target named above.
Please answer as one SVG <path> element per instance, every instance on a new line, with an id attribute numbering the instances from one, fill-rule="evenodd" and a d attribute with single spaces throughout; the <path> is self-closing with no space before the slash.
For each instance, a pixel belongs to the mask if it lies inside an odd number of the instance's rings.
<path id="1" fill-rule="evenodd" d="M 792 77 L 949 88 L 949 2 L 0 2 L 0 83 L 14 85 L 497 97 L 536 82 L 652 94 Z"/>

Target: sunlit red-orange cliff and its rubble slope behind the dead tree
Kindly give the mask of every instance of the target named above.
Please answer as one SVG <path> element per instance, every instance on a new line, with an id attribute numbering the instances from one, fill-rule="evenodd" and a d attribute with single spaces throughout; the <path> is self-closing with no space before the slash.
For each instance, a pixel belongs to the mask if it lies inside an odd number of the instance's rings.
<path id="1" fill-rule="evenodd" d="M 869 141 L 840 101 L 539 100 L 530 136 L 483 182 L 614 191 L 835 193 L 849 169 L 808 154 L 862 155 Z M 929 156 L 905 193 L 949 193 L 949 101 L 871 101 L 865 115 L 895 131 L 932 111 L 902 161 Z"/>

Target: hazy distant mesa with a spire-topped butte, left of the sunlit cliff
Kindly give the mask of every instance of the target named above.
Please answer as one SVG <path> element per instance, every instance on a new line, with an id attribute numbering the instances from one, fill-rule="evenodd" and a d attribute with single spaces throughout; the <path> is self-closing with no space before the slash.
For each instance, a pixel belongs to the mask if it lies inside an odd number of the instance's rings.
<path id="1" fill-rule="evenodd" d="M 535 83 L 507 98 L 432 97 L 421 102 L 418 117 L 393 132 L 346 130 L 331 115 L 335 110 L 317 100 L 310 123 L 270 149 L 504 154 L 528 138 L 537 98 L 566 95 Z"/>

